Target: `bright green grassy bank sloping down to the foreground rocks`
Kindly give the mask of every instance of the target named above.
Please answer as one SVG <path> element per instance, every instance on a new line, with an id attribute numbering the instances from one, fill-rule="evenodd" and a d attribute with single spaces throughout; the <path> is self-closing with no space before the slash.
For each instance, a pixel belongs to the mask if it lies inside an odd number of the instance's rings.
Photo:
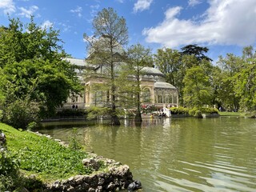
<path id="1" fill-rule="evenodd" d="M 87 157 L 85 151 L 71 150 L 52 139 L 3 123 L 0 123 L 0 130 L 6 134 L 8 151 L 20 162 L 20 170 L 26 174 L 36 174 L 42 181 L 50 182 L 92 173 L 82 165 L 82 159 Z"/>

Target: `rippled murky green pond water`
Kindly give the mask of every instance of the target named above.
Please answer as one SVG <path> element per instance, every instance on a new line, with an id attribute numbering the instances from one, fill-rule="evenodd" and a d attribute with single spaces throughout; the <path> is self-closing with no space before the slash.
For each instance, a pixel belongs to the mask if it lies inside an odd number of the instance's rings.
<path id="1" fill-rule="evenodd" d="M 50 122 L 41 133 L 130 166 L 142 191 L 256 191 L 256 119 L 144 119 L 142 126 Z"/>

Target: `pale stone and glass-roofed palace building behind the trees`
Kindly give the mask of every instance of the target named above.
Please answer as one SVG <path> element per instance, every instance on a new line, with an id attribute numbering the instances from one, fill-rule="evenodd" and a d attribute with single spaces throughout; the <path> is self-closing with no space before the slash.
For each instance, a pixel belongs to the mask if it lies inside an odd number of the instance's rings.
<path id="1" fill-rule="evenodd" d="M 92 87 L 95 84 L 106 81 L 106 77 L 102 77 L 102 66 L 90 65 L 83 59 L 66 58 L 71 64 L 76 66 L 76 72 L 84 91 L 82 95 L 71 94 L 66 102 L 65 108 L 72 108 L 78 105 L 78 108 L 85 108 L 86 106 L 102 106 L 106 99 L 110 99 L 108 91 L 105 93 L 100 91 L 92 92 Z M 86 70 L 92 70 L 94 75 L 87 75 L 84 77 Z M 154 67 L 144 67 L 143 75 L 140 78 L 142 88 L 142 105 L 154 106 L 178 106 L 178 90 L 170 83 L 165 82 L 164 74 Z"/>

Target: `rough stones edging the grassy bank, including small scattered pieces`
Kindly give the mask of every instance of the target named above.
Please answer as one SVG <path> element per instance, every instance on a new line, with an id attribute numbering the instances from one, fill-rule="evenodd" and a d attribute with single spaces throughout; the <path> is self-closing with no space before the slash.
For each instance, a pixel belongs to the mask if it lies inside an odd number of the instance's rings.
<path id="1" fill-rule="evenodd" d="M 33 132 L 34 133 L 34 132 Z M 50 135 L 40 134 L 39 136 L 46 136 L 50 138 Z M 66 143 L 56 139 L 60 145 L 67 146 Z M 4 152 L 6 149 L 6 136 L 0 132 L 0 150 Z M 136 190 L 141 186 L 134 186 L 133 175 L 130 172 L 130 168 L 127 165 L 122 165 L 121 162 L 115 162 L 113 159 L 103 158 L 97 154 L 89 154 L 89 158 L 82 159 L 83 166 L 90 167 L 94 170 L 94 174 L 75 175 L 66 180 L 57 180 L 55 182 L 42 183 L 40 191 L 54 192 L 54 191 L 69 191 L 69 192 L 103 192 L 103 191 L 128 191 Z M 99 170 L 100 167 L 101 170 Z M 104 169 L 105 167 L 105 169 Z M 30 180 L 36 181 L 36 175 L 25 176 L 31 178 Z M 130 185 L 132 184 L 132 185 Z M 130 187 L 130 188 L 129 188 Z M 23 189 L 24 192 L 29 192 Z M 39 191 L 39 190 L 38 190 Z"/>

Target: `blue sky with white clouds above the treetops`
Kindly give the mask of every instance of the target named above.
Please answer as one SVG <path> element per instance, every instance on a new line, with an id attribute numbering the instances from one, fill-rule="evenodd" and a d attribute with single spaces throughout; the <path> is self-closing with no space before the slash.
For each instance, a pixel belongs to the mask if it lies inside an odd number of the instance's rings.
<path id="1" fill-rule="evenodd" d="M 60 30 L 64 49 L 74 58 L 86 57 L 84 33 L 98 11 L 113 7 L 126 18 L 129 45 L 141 43 L 153 53 L 162 47 L 207 46 L 214 62 L 227 53 L 241 55 L 256 46 L 256 0 L 0 0 L 0 25 L 20 18 Z"/>

